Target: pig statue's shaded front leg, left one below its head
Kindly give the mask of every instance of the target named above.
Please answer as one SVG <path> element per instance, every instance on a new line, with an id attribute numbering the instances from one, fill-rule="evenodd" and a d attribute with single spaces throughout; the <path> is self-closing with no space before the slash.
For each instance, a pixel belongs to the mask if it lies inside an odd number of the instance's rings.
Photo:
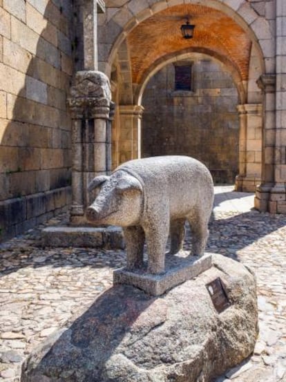
<path id="1" fill-rule="evenodd" d="M 143 266 L 143 247 L 145 235 L 142 227 L 123 227 L 127 251 L 127 268 L 138 269 Z"/>

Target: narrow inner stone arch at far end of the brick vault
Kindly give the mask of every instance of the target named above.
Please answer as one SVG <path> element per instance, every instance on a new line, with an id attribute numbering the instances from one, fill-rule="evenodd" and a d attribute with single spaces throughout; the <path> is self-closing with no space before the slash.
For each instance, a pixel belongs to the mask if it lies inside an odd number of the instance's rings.
<path id="1" fill-rule="evenodd" d="M 141 105 L 144 88 L 146 87 L 146 84 L 149 82 L 149 79 L 151 79 L 151 77 L 153 77 L 155 73 L 157 73 L 164 66 L 171 64 L 172 62 L 191 58 L 193 55 L 196 55 L 196 53 L 201 53 L 205 55 L 206 57 L 212 57 L 226 69 L 226 71 L 233 78 L 233 82 L 236 85 L 240 103 L 241 104 L 245 103 L 247 99 L 246 84 L 242 80 L 240 73 L 238 71 L 238 68 L 233 67 L 233 65 L 227 58 L 218 55 L 218 53 L 205 49 L 205 48 L 198 48 L 196 50 L 188 49 L 188 50 L 183 50 L 181 52 L 175 52 L 175 53 L 172 53 L 171 55 L 166 55 L 164 57 L 161 57 L 160 59 L 155 61 L 153 65 L 149 68 L 149 70 L 147 70 L 144 73 L 142 77 L 142 81 L 135 88 L 135 94 L 134 94 L 135 104 Z"/>

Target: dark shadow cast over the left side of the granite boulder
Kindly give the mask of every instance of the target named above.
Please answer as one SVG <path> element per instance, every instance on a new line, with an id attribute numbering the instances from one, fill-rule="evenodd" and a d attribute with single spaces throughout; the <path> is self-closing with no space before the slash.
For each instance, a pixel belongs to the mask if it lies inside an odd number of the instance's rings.
<path id="1" fill-rule="evenodd" d="M 136 329 L 133 336 L 129 332 L 137 318 L 156 299 L 126 285 L 107 289 L 68 330 L 58 338 L 51 337 L 48 343 L 28 357 L 28 370 L 35 368 L 32 373 L 28 372 L 29 378 L 26 379 L 27 365 L 24 364 L 21 381 L 40 381 L 45 376 L 53 381 L 106 380 L 106 362 L 124 337 L 129 336 L 127 342 L 130 344 L 140 339 L 139 335 L 136 336 Z M 149 324 L 146 323 L 146 327 Z M 148 334 L 148 330 L 144 334 Z M 31 374 L 34 379 L 31 379 Z"/>

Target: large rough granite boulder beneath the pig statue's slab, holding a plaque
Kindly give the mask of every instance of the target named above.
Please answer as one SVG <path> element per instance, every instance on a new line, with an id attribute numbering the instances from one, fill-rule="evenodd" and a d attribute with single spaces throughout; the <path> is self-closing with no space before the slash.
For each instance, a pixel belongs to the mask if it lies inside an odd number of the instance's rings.
<path id="1" fill-rule="evenodd" d="M 23 364 L 22 382 L 210 382 L 254 350 L 256 281 L 239 262 L 213 266 L 160 297 L 118 285 L 50 336 Z M 206 285 L 220 278 L 229 307 Z"/>

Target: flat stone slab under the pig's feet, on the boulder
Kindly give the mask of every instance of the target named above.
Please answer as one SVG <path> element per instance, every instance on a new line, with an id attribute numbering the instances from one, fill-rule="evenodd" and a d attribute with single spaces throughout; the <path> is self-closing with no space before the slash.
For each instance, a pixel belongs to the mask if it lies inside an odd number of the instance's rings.
<path id="1" fill-rule="evenodd" d="M 179 255 L 166 255 L 165 272 L 161 275 L 147 274 L 146 271 L 129 271 L 126 268 L 113 272 L 113 284 L 133 285 L 151 296 L 160 296 L 176 285 L 197 277 L 211 267 L 211 254 L 201 258 L 186 256 L 186 252 Z"/>

